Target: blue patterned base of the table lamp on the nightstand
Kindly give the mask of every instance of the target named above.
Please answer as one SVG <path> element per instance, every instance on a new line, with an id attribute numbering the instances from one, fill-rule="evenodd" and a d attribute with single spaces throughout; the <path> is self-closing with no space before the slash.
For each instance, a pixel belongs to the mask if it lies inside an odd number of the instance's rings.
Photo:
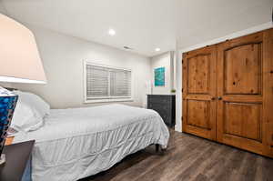
<path id="1" fill-rule="evenodd" d="M 10 126 L 11 120 L 13 118 L 17 99 L 18 99 L 18 96 L 0 87 L 0 156 L 1 158 L 3 157 L 2 152 L 5 146 L 5 137 L 7 135 L 6 131 L 8 127 Z"/>

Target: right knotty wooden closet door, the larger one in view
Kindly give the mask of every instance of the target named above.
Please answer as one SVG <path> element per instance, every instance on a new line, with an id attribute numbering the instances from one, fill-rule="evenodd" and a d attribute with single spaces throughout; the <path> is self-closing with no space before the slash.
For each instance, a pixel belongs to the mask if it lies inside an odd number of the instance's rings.
<path id="1" fill-rule="evenodd" d="M 269 89 L 265 80 L 269 75 L 268 61 L 272 59 L 264 56 L 267 41 L 260 32 L 217 47 L 217 141 L 258 154 L 269 149 L 269 109 L 265 107 Z"/>

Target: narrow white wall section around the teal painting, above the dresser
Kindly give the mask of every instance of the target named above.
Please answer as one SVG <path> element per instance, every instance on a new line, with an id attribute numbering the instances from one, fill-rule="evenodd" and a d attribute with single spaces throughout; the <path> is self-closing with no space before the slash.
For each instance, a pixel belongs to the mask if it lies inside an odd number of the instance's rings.
<path id="1" fill-rule="evenodd" d="M 174 87 L 174 56 L 173 52 L 167 52 L 151 58 L 152 93 L 153 95 L 169 95 Z M 155 86 L 155 68 L 165 67 L 165 86 Z"/>

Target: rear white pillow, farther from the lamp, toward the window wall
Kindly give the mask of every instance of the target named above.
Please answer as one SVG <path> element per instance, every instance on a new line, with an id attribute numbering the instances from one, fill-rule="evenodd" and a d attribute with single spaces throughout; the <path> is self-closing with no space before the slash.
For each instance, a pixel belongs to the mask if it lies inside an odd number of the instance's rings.
<path id="1" fill-rule="evenodd" d="M 14 91 L 14 93 L 19 96 L 22 102 L 36 109 L 42 118 L 49 115 L 50 106 L 40 96 L 22 91 Z"/>

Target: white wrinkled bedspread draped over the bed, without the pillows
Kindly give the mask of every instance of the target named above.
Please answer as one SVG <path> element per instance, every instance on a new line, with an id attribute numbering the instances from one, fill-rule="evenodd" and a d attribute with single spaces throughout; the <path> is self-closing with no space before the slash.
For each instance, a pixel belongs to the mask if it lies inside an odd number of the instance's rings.
<path id="1" fill-rule="evenodd" d="M 167 147 L 169 132 L 157 112 L 123 105 L 51 110 L 35 139 L 34 181 L 74 181 L 114 166 L 151 144 Z"/>

